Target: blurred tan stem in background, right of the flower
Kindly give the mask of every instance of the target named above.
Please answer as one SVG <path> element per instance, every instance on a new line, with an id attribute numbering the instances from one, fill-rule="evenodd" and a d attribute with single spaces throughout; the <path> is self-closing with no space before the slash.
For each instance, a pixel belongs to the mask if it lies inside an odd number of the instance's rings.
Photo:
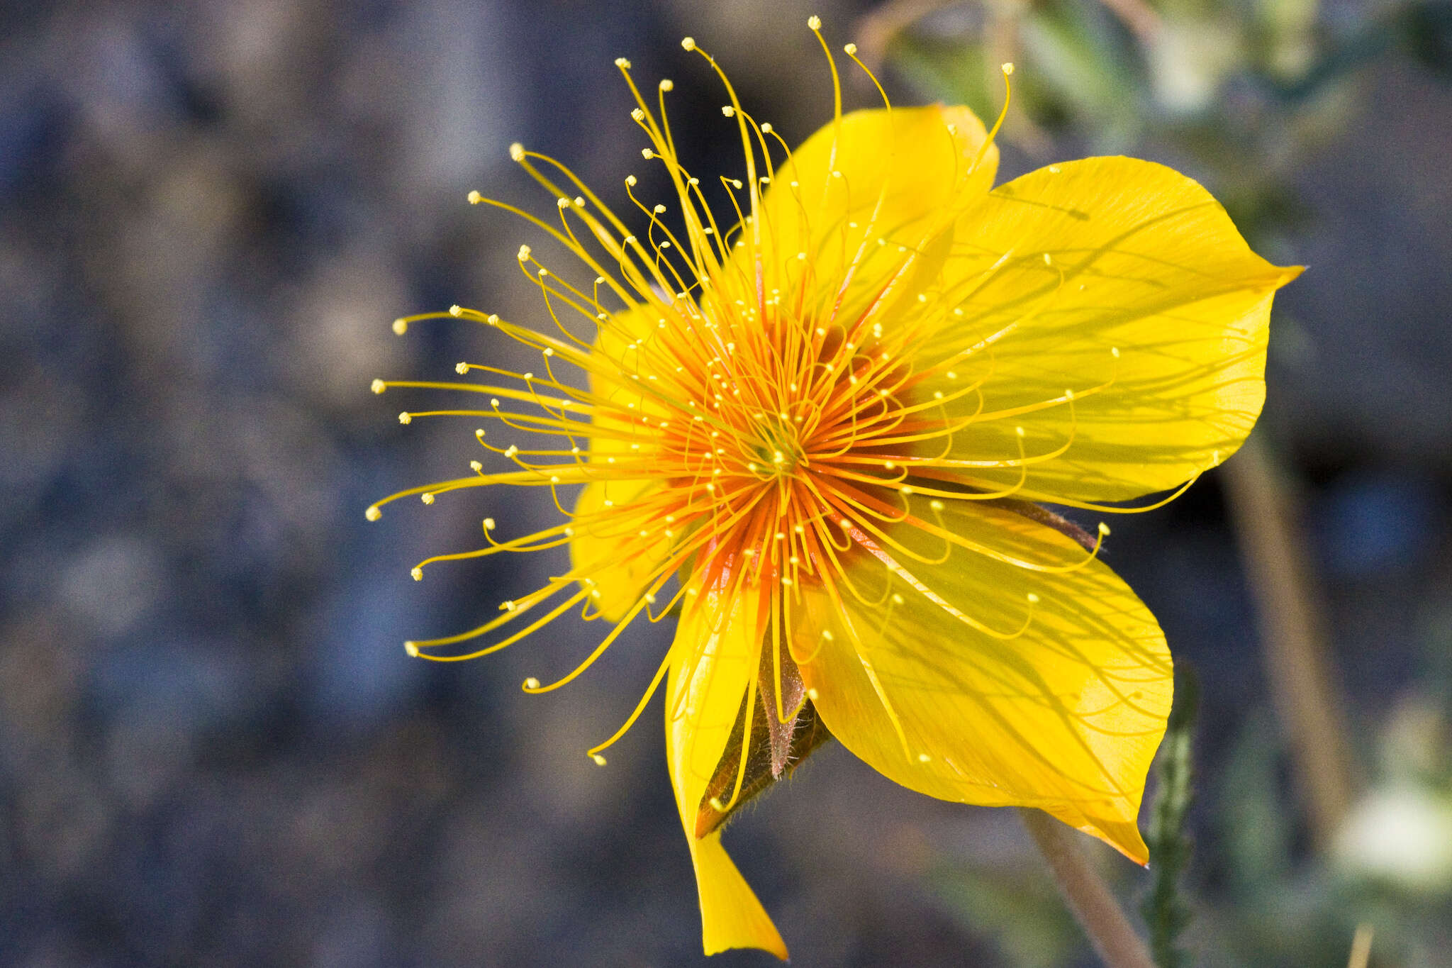
<path id="1" fill-rule="evenodd" d="M 1225 463 L 1230 512 L 1256 599 L 1266 676 L 1286 731 L 1318 848 L 1355 798 L 1346 713 L 1333 684 L 1297 515 L 1272 469 L 1263 434 Z"/>

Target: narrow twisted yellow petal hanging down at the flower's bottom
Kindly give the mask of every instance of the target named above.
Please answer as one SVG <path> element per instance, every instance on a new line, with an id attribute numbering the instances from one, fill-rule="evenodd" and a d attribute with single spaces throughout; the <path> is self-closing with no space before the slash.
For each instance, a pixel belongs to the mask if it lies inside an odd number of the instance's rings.
<path id="1" fill-rule="evenodd" d="M 787 956 L 787 946 L 761 901 L 726 856 L 720 832 L 697 840 L 696 814 L 730 739 L 761 647 L 759 595 L 733 594 L 730 579 L 697 582 L 671 647 L 665 743 L 681 826 L 696 865 L 701 900 L 701 943 L 707 955 L 761 948 Z"/>

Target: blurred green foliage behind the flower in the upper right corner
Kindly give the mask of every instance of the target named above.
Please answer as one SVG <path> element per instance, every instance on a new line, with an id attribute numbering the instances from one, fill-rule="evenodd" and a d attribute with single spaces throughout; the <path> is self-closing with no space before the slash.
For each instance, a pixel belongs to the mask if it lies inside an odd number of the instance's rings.
<path id="1" fill-rule="evenodd" d="M 1044 158 L 1056 138 L 1192 158 L 1266 245 L 1308 218 L 1288 174 L 1340 131 L 1358 68 L 1406 57 L 1452 80 L 1452 4 L 1333 20 L 1317 0 L 993 0 L 941 4 L 886 49 L 919 89 L 986 118 L 1003 99 L 999 64 L 1016 61 L 1008 141 Z"/>

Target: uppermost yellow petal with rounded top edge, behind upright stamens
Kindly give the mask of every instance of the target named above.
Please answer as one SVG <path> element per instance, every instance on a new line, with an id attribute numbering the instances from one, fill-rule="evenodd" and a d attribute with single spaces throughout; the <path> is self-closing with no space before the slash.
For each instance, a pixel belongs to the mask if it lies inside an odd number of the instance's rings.
<path id="1" fill-rule="evenodd" d="M 998 148 L 984 148 L 986 136 L 967 107 L 941 104 L 857 110 L 823 126 L 762 197 L 765 287 L 790 293 L 806 273 L 809 290 L 835 299 L 855 266 L 849 302 L 874 298 L 905 250 L 939 235 L 993 184 Z M 733 253 L 738 267 L 749 267 L 751 226 L 738 238 L 746 242 Z M 755 279 L 749 268 L 741 276 L 752 293 Z"/>

